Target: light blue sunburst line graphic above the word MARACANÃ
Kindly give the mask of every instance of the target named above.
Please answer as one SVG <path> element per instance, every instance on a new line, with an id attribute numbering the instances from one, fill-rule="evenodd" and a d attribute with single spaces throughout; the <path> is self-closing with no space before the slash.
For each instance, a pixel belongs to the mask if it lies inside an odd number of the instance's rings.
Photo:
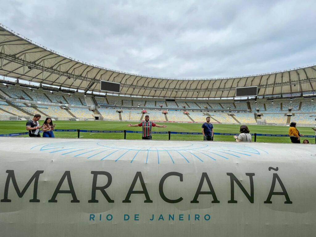
<path id="1" fill-rule="evenodd" d="M 126 145 L 128 143 L 128 145 Z M 129 160 L 146 158 L 146 163 L 154 157 L 158 164 L 161 162 L 175 163 L 179 158 L 187 163 L 216 161 L 252 155 L 268 154 L 261 149 L 231 143 L 206 143 L 188 141 L 150 141 L 142 145 L 135 140 L 91 140 L 57 142 L 35 146 L 40 152 L 58 153 L 59 155 L 73 155 L 93 160 Z"/>

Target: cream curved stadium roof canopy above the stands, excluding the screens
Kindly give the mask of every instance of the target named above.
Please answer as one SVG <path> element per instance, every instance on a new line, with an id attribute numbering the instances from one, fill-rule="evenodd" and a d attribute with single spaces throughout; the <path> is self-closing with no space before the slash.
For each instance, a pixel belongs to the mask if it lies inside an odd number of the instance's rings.
<path id="1" fill-rule="evenodd" d="M 94 92 L 100 81 L 119 82 L 120 94 L 170 98 L 234 97 L 236 87 L 258 86 L 258 95 L 316 90 L 316 64 L 265 74 L 172 79 L 107 69 L 68 57 L 0 24 L 0 75 Z"/>

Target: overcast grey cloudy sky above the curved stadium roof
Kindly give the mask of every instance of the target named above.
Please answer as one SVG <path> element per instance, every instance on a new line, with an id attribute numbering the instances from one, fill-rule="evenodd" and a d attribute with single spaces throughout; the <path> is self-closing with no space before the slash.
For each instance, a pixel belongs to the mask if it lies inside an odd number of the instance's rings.
<path id="1" fill-rule="evenodd" d="M 0 23 L 123 72 L 216 78 L 316 63 L 316 1 L 2 1 Z"/>

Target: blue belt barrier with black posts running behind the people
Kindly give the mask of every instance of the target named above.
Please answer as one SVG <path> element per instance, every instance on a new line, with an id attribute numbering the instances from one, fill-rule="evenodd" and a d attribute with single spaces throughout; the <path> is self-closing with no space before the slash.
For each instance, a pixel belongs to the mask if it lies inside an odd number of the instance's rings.
<path id="1" fill-rule="evenodd" d="M 55 132 L 78 132 L 78 138 L 80 137 L 80 132 L 92 132 L 92 133 L 123 133 L 124 132 L 124 139 L 126 139 L 126 133 L 143 133 L 142 131 L 129 131 L 129 130 L 107 130 L 107 131 L 99 131 L 99 130 L 80 130 L 80 129 L 55 129 Z M 40 131 L 43 132 L 43 131 Z M 202 132 L 151 132 L 152 134 L 168 134 L 170 140 L 171 134 L 181 134 L 181 135 L 202 135 Z M 19 132 L 19 133 L 10 133 L 10 134 L 0 134 L 0 137 L 15 137 L 21 135 L 27 135 L 28 132 Z M 287 134 L 263 134 L 263 133 L 250 133 L 254 136 L 254 142 L 257 140 L 257 136 L 264 136 L 264 137 L 289 137 Z M 220 133 L 214 132 L 214 135 L 228 135 L 228 136 L 238 136 L 239 133 Z M 214 137 L 214 136 L 213 136 Z M 315 137 L 313 135 L 304 135 L 304 137 Z"/>

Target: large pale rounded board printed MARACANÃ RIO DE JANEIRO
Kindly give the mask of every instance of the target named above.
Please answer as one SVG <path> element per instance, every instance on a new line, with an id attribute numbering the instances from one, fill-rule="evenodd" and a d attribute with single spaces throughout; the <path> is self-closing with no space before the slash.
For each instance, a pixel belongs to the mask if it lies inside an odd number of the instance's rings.
<path id="1" fill-rule="evenodd" d="M 0 137 L 1 236 L 313 236 L 315 145 Z"/>

